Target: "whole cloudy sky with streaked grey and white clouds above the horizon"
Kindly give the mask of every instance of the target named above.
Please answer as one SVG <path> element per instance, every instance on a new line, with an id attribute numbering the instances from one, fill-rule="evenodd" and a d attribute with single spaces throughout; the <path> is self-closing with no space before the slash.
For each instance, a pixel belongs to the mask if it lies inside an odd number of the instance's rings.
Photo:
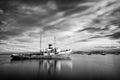
<path id="1" fill-rule="evenodd" d="M 120 49 L 120 0 L 0 0 L 0 51 Z"/>

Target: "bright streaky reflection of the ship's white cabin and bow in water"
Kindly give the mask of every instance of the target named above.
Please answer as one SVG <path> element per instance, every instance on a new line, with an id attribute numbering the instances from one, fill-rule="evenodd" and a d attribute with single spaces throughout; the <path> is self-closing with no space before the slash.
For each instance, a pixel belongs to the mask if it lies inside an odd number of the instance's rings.
<path id="1" fill-rule="evenodd" d="M 38 74 L 41 73 L 48 77 L 55 77 L 63 71 L 63 67 L 66 70 L 72 70 L 71 60 L 40 60 Z"/>

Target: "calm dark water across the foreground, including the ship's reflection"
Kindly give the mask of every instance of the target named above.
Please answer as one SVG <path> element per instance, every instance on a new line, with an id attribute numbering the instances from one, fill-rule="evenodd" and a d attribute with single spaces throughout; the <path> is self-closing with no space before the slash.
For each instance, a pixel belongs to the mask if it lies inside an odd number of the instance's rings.
<path id="1" fill-rule="evenodd" d="M 11 60 L 0 55 L 0 80 L 118 80 L 120 55 L 80 55 L 71 60 Z"/>

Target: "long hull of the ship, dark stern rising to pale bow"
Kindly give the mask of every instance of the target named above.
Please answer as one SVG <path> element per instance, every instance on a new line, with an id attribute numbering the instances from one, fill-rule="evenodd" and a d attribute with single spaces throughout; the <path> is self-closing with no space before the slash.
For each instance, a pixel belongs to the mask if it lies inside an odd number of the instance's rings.
<path id="1" fill-rule="evenodd" d="M 69 59 L 71 51 L 61 52 L 54 55 L 36 55 L 36 54 L 12 54 L 12 59 Z"/>

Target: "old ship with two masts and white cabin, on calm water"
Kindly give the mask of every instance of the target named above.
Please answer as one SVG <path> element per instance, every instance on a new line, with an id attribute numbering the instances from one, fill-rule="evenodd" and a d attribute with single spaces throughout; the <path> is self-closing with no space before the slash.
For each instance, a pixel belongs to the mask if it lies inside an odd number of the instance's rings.
<path id="1" fill-rule="evenodd" d="M 56 38 L 54 38 L 54 40 L 55 39 Z M 16 60 L 19 60 L 19 59 L 69 59 L 72 50 L 71 49 L 61 50 L 59 48 L 56 48 L 55 44 L 56 43 L 54 43 L 54 48 L 52 44 L 49 44 L 47 49 L 42 50 L 41 39 L 40 39 L 40 52 L 39 53 L 12 54 L 11 57 L 12 59 L 16 59 Z"/>

